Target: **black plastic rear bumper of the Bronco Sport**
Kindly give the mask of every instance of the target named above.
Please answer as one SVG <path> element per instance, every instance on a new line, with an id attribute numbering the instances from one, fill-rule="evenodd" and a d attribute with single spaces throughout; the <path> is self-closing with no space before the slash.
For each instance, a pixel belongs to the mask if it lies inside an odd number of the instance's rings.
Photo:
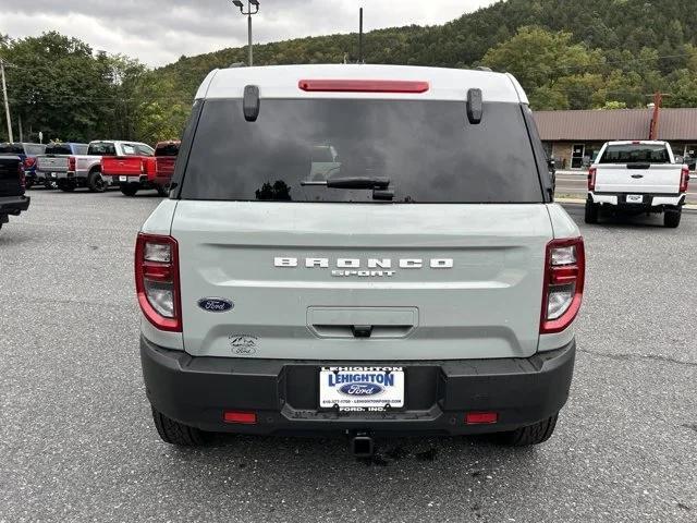
<path id="1" fill-rule="evenodd" d="M 318 411 L 318 368 L 356 362 L 192 357 L 140 338 L 148 400 L 185 425 L 211 431 L 317 434 L 481 434 L 531 425 L 568 397 L 576 343 L 529 358 L 390 362 L 405 369 L 406 410 Z M 376 362 L 370 362 L 376 363 Z M 384 363 L 384 362 L 382 362 Z M 366 362 L 362 362 L 366 364 Z M 257 414 L 254 425 L 227 424 L 224 410 Z M 494 411 L 491 425 L 466 425 L 466 412 Z"/>

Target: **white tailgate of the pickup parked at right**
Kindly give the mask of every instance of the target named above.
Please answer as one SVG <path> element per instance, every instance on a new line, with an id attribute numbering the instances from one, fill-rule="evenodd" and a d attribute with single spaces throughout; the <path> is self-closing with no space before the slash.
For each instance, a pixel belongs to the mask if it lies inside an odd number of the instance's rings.
<path id="1" fill-rule="evenodd" d="M 682 166 L 653 165 L 597 165 L 596 192 L 677 194 Z"/>

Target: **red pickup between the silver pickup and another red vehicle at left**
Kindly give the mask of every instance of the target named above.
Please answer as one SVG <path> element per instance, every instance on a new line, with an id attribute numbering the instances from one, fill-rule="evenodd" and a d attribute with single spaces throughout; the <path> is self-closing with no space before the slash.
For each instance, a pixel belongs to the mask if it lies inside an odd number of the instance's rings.
<path id="1" fill-rule="evenodd" d="M 101 158 L 101 172 L 126 196 L 144 188 L 155 188 L 164 196 L 167 190 L 156 182 L 155 149 L 147 144 L 123 142 L 115 155 Z"/>

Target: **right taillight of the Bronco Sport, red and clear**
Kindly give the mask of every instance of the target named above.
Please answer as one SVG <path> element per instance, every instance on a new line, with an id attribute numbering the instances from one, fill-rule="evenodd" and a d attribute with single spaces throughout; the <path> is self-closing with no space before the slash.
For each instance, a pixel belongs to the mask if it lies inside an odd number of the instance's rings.
<path id="1" fill-rule="evenodd" d="M 561 332 L 576 318 L 585 273 L 583 238 L 552 240 L 547 244 L 540 333 Z"/>

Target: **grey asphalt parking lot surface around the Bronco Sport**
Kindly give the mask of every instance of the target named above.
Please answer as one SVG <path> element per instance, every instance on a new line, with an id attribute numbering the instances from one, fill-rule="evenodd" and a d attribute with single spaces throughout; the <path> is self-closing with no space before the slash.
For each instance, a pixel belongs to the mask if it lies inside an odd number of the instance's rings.
<path id="1" fill-rule="evenodd" d="M 697 212 L 587 227 L 579 353 L 550 441 L 162 443 L 135 233 L 159 198 L 30 192 L 0 231 L 0 521 L 697 521 Z"/>

